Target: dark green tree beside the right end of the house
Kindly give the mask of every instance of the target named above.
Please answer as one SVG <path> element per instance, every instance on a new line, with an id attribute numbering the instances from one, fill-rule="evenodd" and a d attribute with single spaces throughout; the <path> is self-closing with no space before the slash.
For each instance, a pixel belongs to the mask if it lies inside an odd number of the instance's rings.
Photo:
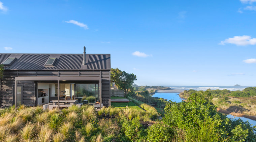
<path id="1" fill-rule="evenodd" d="M 125 71 L 121 71 L 118 68 L 111 68 L 110 71 L 110 82 L 115 82 L 118 88 L 123 89 L 125 95 L 127 94 L 129 89 L 132 89 L 132 84 L 135 80 L 137 80 L 136 75 L 133 73 L 129 74 Z"/>

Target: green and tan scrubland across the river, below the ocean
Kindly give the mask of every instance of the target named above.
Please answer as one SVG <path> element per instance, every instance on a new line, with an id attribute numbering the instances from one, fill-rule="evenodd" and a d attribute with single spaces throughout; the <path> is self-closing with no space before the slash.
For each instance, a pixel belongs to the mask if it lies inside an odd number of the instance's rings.
<path id="1" fill-rule="evenodd" d="M 243 91 L 229 90 L 207 90 L 213 95 L 213 103 L 216 107 L 225 110 L 224 113 L 238 112 L 239 116 L 244 116 L 255 120 L 256 115 L 256 87 L 247 87 Z M 185 90 L 180 93 L 181 97 L 188 98 L 193 93 L 201 91 Z M 254 115 L 254 116 L 251 116 Z"/>

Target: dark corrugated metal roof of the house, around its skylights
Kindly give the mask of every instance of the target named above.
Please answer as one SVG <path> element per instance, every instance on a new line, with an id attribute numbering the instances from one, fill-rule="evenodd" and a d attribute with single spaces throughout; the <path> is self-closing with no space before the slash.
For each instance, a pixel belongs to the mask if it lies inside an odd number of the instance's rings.
<path id="1" fill-rule="evenodd" d="M 8 57 L 17 58 L 6 70 L 110 70 L 110 54 L 0 54 L 0 64 Z M 53 67 L 44 66 L 49 58 L 56 58 Z"/>

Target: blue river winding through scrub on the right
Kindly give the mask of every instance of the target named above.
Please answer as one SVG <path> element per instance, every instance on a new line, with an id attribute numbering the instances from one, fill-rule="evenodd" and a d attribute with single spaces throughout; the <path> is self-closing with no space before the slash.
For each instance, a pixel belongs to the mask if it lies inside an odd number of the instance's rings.
<path id="1" fill-rule="evenodd" d="M 182 98 L 180 98 L 179 96 L 180 93 L 156 93 L 155 95 L 153 95 L 152 97 L 159 97 L 159 98 L 164 98 L 164 99 L 167 99 L 168 101 L 171 100 L 172 102 L 181 102 Z M 231 118 L 233 117 L 231 114 L 227 115 L 228 118 Z M 252 126 L 256 126 L 256 121 L 255 120 L 252 120 L 252 119 L 249 119 L 249 118 L 245 118 L 245 117 L 235 117 L 233 119 L 238 119 L 238 118 L 241 118 L 243 121 L 249 121 Z"/>

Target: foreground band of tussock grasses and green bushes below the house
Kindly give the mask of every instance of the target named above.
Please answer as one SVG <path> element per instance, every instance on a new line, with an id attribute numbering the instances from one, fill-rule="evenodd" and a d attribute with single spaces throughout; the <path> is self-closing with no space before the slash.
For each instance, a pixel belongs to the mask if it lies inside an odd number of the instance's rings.
<path id="1" fill-rule="evenodd" d="M 36 142 L 252 142 L 256 127 L 217 112 L 209 91 L 181 103 L 169 102 L 163 119 L 153 107 L 130 98 L 137 108 L 72 106 L 43 111 L 40 107 L 0 110 L 0 141 Z M 152 121 L 154 120 L 154 121 Z"/>

